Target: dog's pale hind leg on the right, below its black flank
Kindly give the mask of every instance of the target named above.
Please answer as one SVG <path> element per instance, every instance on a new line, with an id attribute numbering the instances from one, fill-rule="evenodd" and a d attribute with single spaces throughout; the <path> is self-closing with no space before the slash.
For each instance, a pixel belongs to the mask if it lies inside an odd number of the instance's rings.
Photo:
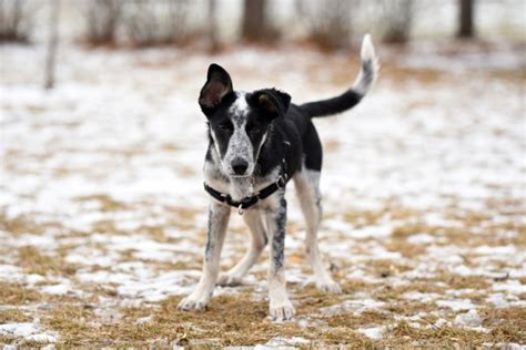
<path id="1" fill-rule="evenodd" d="M 311 262 L 316 288 L 325 292 L 340 294 L 342 289 L 323 267 L 317 246 L 317 230 L 322 219 L 320 172 L 305 168 L 294 176 L 294 185 L 306 223 L 305 250 Z"/>

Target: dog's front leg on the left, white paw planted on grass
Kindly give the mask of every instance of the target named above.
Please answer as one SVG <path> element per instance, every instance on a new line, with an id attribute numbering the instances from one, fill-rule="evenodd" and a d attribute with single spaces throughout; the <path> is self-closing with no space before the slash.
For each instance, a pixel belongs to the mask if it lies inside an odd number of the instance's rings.
<path id="1" fill-rule="evenodd" d="M 221 249 L 229 225 L 230 207 L 212 200 L 209 209 L 209 233 L 204 251 L 203 275 L 195 290 L 181 300 L 182 310 L 203 310 L 212 298 L 219 275 Z"/>

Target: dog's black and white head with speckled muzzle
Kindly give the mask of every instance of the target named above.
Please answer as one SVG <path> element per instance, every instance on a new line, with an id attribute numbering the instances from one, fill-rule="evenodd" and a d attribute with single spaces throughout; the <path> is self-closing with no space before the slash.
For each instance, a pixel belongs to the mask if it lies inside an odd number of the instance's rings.
<path id="1" fill-rule="evenodd" d="M 251 176 L 270 126 L 286 114 L 291 96 L 275 89 L 233 90 L 229 73 L 211 64 L 199 104 L 209 120 L 211 142 L 229 176 Z"/>

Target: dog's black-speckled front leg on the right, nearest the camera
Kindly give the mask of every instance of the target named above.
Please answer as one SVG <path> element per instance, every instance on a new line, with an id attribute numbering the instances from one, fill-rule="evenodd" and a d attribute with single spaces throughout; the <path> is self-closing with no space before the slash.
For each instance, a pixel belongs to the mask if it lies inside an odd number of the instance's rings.
<path id="1" fill-rule="evenodd" d="M 270 315 L 274 321 L 285 321 L 294 317 L 295 310 L 286 294 L 284 271 L 286 200 L 279 194 L 276 204 L 266 212 L 271 256 L 269 267 Z"/>

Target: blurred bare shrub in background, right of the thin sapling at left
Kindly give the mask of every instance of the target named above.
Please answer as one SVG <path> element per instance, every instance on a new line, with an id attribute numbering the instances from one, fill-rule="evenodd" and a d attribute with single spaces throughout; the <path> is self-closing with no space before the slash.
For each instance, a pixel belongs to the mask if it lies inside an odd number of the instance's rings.
<path id="1" fill-rule="evenodd" d="M 122 2 L 121 0 L 89 0 L 85 2 L 83 12 L 88 31 L 87 40 L 90 44 L 115 43 Z"/>

